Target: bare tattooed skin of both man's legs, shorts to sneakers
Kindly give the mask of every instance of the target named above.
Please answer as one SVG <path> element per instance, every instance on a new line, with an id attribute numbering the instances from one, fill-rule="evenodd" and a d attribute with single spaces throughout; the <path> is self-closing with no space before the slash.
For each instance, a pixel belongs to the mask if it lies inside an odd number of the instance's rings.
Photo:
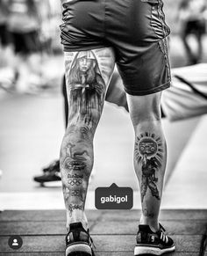
<path id="1" fill-rule="evenodd" d="M 65 53 L 68 127 L 61 144 L 61 177 L 69 223 L 88 221 L 84 213 L 89 175 L 94 163 L 93 138 L 103 111 L 105 92 L 114 69 L 111 48 Z M 161 128 L 161 92 L 127 94 L 135 132 L 134 168 L 139 180 L 140 223 L 159 229 L 167 150 Z"/>

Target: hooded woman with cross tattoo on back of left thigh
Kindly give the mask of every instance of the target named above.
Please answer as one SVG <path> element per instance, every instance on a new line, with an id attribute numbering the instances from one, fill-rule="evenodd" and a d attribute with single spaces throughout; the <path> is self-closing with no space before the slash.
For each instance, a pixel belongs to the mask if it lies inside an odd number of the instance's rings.
<path id="1" fill-rule="evenodd" d="M 68 89 L 72 115 L 77 112 L 90 115 L 92 109 L 101 112 L 106 86 L 92 51 L 82 51 L 75 55 L 68 76 Z"/>

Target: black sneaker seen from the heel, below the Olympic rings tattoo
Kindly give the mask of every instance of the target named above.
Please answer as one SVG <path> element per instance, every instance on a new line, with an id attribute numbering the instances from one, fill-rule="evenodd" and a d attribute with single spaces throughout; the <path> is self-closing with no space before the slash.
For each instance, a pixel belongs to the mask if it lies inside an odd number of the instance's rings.
<path id="1" fill-rule="evenodd" d="M 92 245 L 89 230 L 84 230 L 82 223 L 71 223 L 66 236 L 66 256 L 95 256 Z"/>

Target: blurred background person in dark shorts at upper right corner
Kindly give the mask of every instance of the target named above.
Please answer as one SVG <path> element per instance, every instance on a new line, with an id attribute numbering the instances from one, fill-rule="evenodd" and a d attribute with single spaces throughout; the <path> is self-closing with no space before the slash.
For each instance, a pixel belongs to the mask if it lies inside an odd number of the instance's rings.
<path id="1" fill-rule="evenodd" d="M 202 59 L 202 39 L 206 31 L 206 9 L 206 0 L 182 0 L 180 4 L 181 37 L 187 53 L 188 64 L 196 64 Z M 189 42 L 189 35 L 193 35 L 196 39 L 196 50 L 192 48 Z"/>

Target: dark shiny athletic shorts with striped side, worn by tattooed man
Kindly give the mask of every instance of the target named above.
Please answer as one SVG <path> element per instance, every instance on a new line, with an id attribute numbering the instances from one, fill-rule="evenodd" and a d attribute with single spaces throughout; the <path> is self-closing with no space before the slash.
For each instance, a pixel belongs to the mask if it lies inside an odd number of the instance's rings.
<path id="1" fill-rule="evenodd" d="M 162 0 L 62 0 L 64 51 L 112 47 L 131 95 L 169 87 L 167 36 Z"/>

